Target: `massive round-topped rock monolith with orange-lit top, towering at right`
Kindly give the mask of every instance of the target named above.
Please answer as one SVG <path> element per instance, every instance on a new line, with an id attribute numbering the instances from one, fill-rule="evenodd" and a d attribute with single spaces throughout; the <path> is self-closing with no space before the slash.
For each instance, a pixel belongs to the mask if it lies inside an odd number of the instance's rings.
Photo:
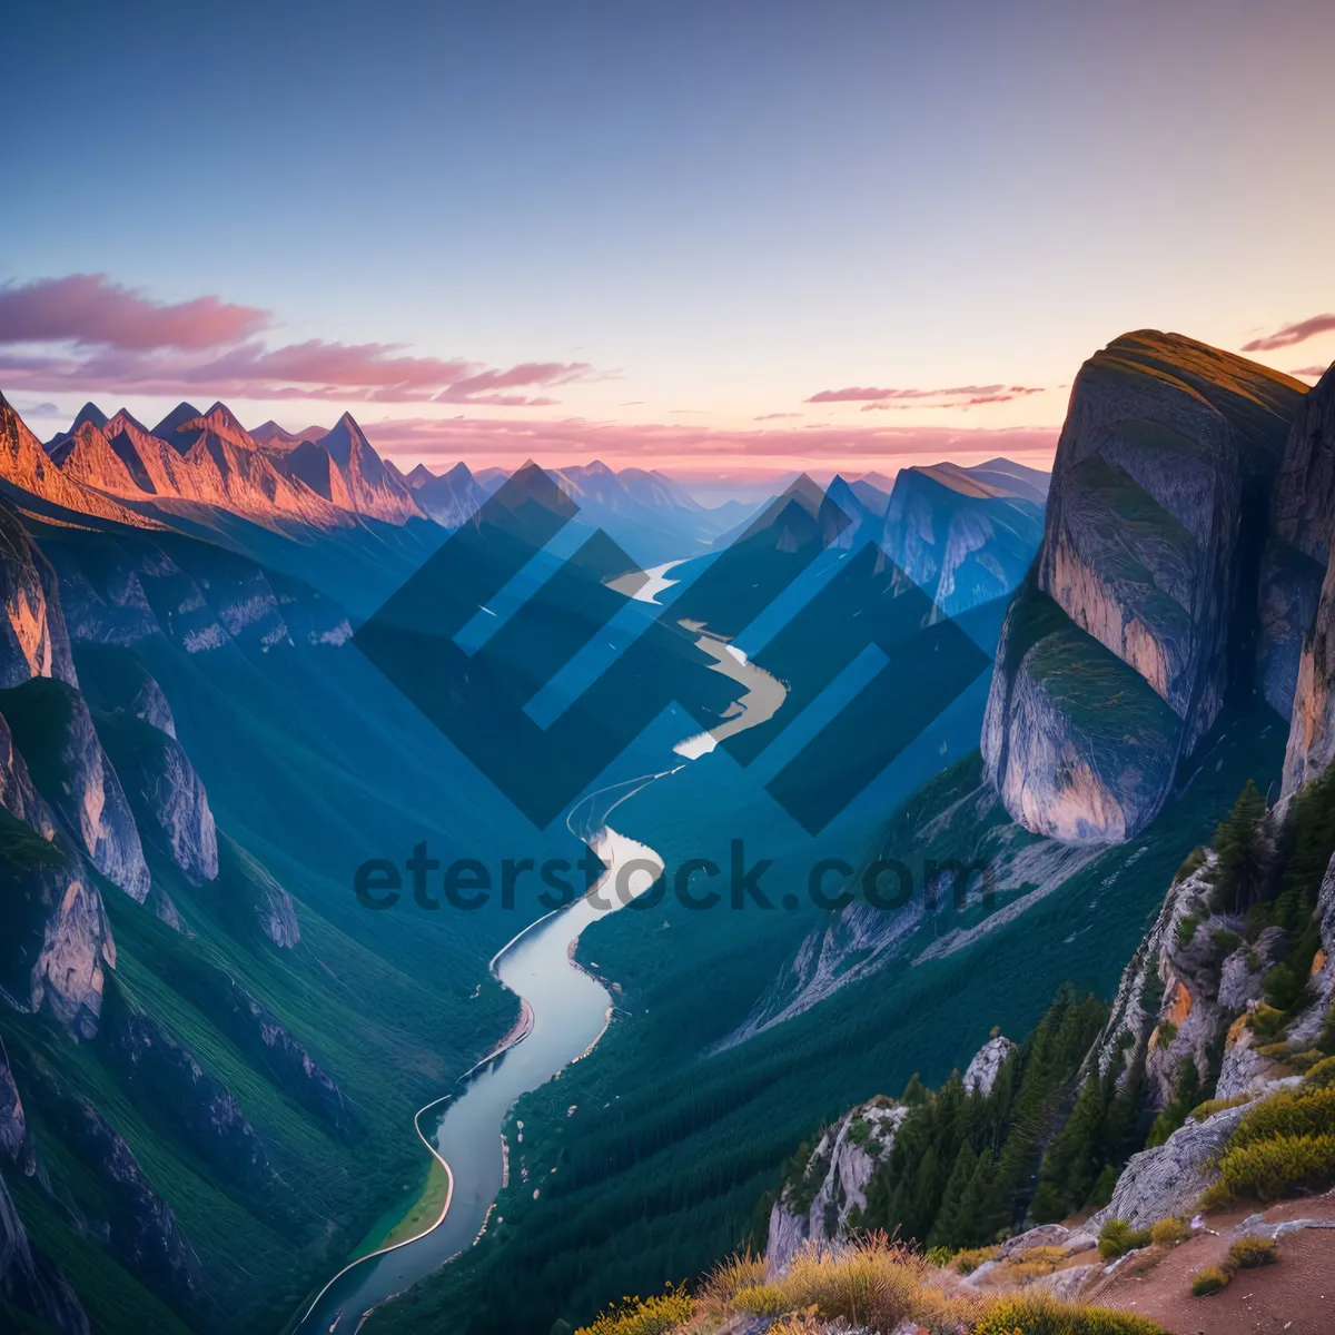
<path id="1" fill-rule="evenodd" d="M 1173 334 L 1081 367 L 983 736 L 1028 829 L 1116 842 L 1157 813 L 1250 663 L 1266 502 L 1303 394 Z"/>

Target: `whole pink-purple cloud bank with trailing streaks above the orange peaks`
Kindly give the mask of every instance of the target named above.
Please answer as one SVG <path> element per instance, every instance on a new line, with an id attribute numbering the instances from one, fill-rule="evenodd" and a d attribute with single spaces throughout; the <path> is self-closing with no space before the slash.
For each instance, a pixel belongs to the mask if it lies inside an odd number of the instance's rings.
<path id="1" fill-rule="evenodd" d="M 587 362 L 489 367 L 415 356 L 405 343 L 307 339 L 271 347 L 254 335 L 268 311 L 218 296 L 155 302 L 104 274 L 0 286 L 0 379 L 8 388 L 174 395 L 206 388 L 250 399 L 546 407 L 545 390 L 591 379 Z"/>

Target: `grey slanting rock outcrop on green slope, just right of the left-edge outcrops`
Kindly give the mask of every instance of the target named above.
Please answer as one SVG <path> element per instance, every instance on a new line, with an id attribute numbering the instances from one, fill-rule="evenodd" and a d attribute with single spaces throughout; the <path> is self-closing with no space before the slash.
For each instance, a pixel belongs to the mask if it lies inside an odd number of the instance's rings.
<path id="1" fill-rule="evenodd" d="M 124 710 L 97 716 L 139 829 L 192 881 L 218 877 L 218 832 L 186 748 Z"/>

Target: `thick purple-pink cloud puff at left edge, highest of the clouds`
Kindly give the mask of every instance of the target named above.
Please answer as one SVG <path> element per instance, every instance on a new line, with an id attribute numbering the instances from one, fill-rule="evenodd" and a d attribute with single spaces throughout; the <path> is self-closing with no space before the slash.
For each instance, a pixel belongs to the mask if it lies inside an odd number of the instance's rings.
<path id="1" fill-rule="evenodd" d="M 0 287 L 0 343 L 211 348 L 264 328 L 270 312 L 218 296 L 155 302 L 105 274 L 69 274 Z"/>

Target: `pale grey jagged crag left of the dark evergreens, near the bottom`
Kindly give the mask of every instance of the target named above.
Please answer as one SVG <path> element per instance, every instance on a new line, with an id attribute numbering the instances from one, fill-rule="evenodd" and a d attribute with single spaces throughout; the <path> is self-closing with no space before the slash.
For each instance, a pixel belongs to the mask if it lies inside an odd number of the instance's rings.
<path id="1" fill-rule="evenodd" d="M 784 1187 L 769 1216 L 765 1259 L 769 1274 L 781 1274 L 808 1243 L 836 1239 L 866 1208 L 866 1184 L 886 1161 L 909 1109 L 873 1099 L 829 1127 L 801 1177 Z"/>

